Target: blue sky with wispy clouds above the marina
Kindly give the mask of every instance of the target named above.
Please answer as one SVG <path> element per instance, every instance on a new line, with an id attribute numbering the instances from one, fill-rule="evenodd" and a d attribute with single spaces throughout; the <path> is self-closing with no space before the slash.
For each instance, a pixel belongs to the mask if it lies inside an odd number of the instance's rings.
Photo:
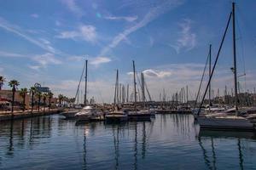
<path id="1" fill-rule="evenodd" d="M 113 102 L 115 72 L 132 85 L 132 60 L 154 100 L 189 86 L 195 98 L 212 44 L 216 58 L 230 0 L 0 0 L 0 75 L 19 88 L 35 82 L 74 97 L 88 65 L 88 96 Z M 256 87 L 256 1 L 236 1 L 237 72 L 241 92 Z M 212 89 L 234 87 L 232 27 Z M 246 76 L 241 76 L 246 74 Z M 241 76 L 241 77 L 240 77 Z M 204 87 L 206 87 L 206 81 Z M 84 85 L 82 85 L 84 87 Z M 9 88 L 5 82 L 3 88 Z M 82 93 L 83 93 L 82 88 Z M 130 92 L 133 88 L 130 88 Z"/>

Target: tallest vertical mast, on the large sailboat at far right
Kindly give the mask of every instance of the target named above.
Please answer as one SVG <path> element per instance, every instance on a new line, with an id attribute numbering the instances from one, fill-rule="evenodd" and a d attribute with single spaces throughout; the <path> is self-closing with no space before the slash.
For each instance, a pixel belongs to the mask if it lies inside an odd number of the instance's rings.
<path id="1" fill-rule="evenodd" d="M 236 18 L 235 18 L 235 3 L 232 3 L 232 19 L 233 19 L 233 53 L 234 53 L 234 79 L 235 79 L 235 107 L 237 116 L 237 76 L 236 76 Z"/>

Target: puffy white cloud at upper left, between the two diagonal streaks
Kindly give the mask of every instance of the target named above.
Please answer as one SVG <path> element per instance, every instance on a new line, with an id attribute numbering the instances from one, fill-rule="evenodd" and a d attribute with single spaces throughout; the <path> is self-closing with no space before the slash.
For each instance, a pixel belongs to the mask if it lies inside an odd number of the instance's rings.
<path id="1" fill-rule="evenodd" d="M 61 34 L 57 37 L 63 39 L 82 39 L 87 42 L 96 42 L 96 27 L 90 25 L 82 25 L 79 26 L 77 31 L 62 31 Z"/>

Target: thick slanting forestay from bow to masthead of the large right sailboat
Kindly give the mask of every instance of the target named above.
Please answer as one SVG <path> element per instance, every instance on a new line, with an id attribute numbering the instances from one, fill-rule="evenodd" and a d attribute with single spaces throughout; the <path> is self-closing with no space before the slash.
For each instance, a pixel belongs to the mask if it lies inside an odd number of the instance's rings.
<path id="1" fill-rule="evenodd" d="M 226 28 L 225 28 L 224 35 L 223 35 L 222 40 L 221 40 L 221 42 L 220 42 L 220 46 L 219 46 L 219 48 L 218 48 L 218 54 L 217 54 L 217 57 L 216 57 L 216 59 L 215 59 L 215 62 L 214 62 L 213 68 L 212 68 L 212 73 L 211 73 L 211 76 L 210 76 L 209 81 L 208 81 L 208 83 L 207 83 L 207 89 L 206 89 L 206 91 L 205 91 L 205 93 L 204 93 L 204 95 L 203 95 L 203 99 L 201 100 L 201 105 L 200 105 L 200 108 L 199 108 L 199 110 L 198 110 L 198 112 L 197 112 L 197 115 L 199 115 L 200 112 L 201 112 L 201 106 L 203 105 L 204 99 L 205 99 L 206 94 L 207 94 L 207 90 L 208 90 L 208 88 L 209 88 L 209 84 L 210 84 L 210 82 L 211 82 L 211 80 L 212 80 L 212 75 L 213 75 L 213 72 L 214 72 L 215 67 L 216 67 L 216 65 L 217 65 L 218 57 L 219 57 L 221 48 L 222 48 L 222 46 L 223 46 L 224 39 L 225 39 L 225 37 L 226 37 L 228 28 L 229 28 L 229 26 L 230 26 L 231 16 L 232 16 L 232 12 L 230 12 L 230 17 L 229 17 L 227 26 L 226 26 Z"/>

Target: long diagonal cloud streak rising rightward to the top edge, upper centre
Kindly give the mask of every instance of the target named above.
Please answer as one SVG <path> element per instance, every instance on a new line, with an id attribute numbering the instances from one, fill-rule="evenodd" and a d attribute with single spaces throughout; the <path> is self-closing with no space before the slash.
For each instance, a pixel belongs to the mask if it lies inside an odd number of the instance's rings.
<path id="1" fill-rule="evenodd" d="M 131 26 L 125 31 L 119 33 L 116 37 L 113 37 L 112 42 L 107 47 L 102 48 L 100 55 L 107 54 L 110 49 L 115 48 L 119 44 L 119 42 L 125 40 L 126 37 L 129 36 L 132 32 L 137 31 L 144 26 L 147 26 L 148 23 L 158 18 L 161 14 L 165 14 L 168 10 L 176 8 L 182 3 L 183 1 L 167 0 L 163 3 L 160 3 L 160 5 L 149 9 L 149 12 L 145 14 L 143 20 L 140 20 L 137 24 L 135 24 L 135 26 Z"/>

